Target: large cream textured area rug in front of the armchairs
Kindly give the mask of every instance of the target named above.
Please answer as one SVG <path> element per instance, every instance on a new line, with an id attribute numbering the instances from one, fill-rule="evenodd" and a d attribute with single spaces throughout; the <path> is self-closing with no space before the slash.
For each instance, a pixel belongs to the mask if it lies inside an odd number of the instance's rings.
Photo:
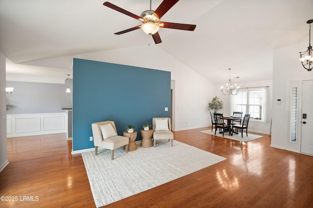
<path id="1" fill-rule="evenodd" d="M 174 140 L 157 142 L 156 147 L 142 148 L 126 153 L 123 148 L 114 151 L 98 149 L 82 153 L 91 192 L 96 207 L 124 199 L 155 188 L 184 175 L 219 163 L 226 158 Z"/>

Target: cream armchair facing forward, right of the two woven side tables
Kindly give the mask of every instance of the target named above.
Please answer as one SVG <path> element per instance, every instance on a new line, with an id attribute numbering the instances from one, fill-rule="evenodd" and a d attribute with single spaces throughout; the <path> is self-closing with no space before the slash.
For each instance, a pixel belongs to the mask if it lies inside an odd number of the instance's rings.
<path id="1" fill-rule="evenodd" d="M 153 146 L 156 147 L 156 140 L 171 140 L 173 147 L 174 133 L 172 132 L 171 118 L 152 118 Z"/>

